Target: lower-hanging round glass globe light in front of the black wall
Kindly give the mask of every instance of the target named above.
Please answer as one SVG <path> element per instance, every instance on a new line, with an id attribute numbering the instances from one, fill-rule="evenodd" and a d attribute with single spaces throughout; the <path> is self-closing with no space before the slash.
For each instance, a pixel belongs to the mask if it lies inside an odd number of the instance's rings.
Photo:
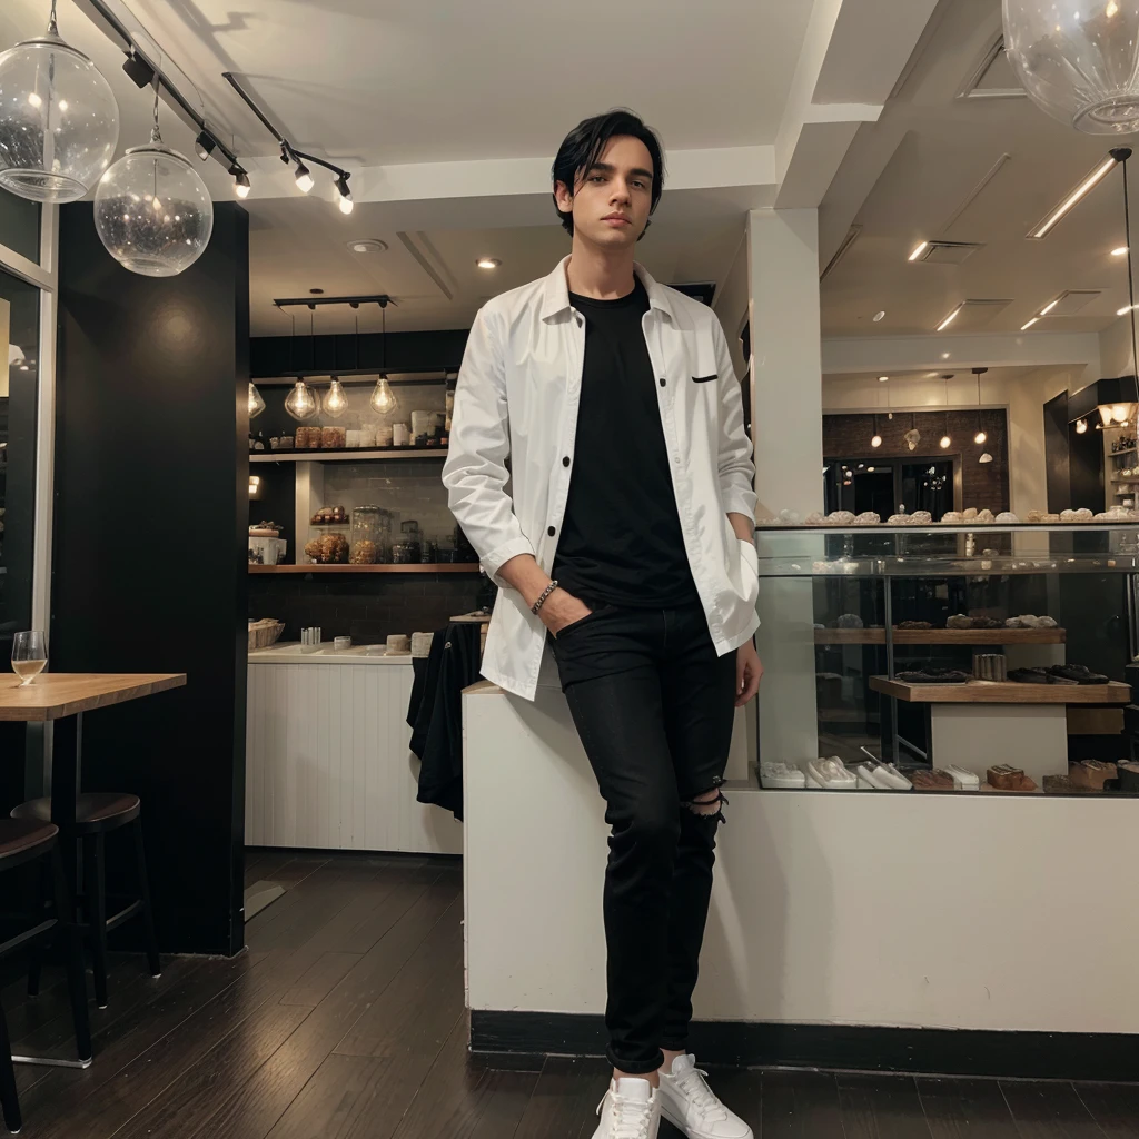
<path id="1" fill-rule="evenodd" d="M 174 277 L 205 252 L 213 202 L 202 175 L 162 141 L 155 81 L 154 128 L 99 179 L 95 228 L 107 252 L 132 273 Z"/>

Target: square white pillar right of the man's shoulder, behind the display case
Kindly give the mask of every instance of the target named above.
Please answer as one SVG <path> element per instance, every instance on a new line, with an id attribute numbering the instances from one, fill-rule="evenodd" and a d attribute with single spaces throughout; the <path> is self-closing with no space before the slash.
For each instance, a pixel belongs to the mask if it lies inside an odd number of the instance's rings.
<path id="1" fill-rule="evenodd" d="M 752 335 L 752 440 L 757 516 L 806 517 L 822 509 L 822 343 L 817 210 L 756 210 L 748 215 Z M 810 570 L 822 541 L 781 535 Z M 787 549 L 759 542 L 760 556 Z M 800 562 L 803 564 L 803 562 Z M 814 681 L 814 606 L 810 577 L 764 579 L 760 590 L 760 756 L 801 763 L 819 754 Z"/>

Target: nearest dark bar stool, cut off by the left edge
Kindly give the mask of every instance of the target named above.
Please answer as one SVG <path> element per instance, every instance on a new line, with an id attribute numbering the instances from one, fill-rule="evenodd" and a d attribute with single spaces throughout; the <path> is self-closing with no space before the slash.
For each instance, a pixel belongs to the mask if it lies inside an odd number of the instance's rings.
<path id="1" fill-rule="evenodd" d="M 71 920 L 72 906 L 64 880 L 63 861 L 56 838 L 59 828 L 51 822 L 31 819 L 0 819 L 0 874 L 27 862 L 43 860 L 49 871 L 52 891 L 46 913 L 36 913 L 36 925 L 0 943 L 0 961 L 25 949 L 38 950 L 46 942 L 63 933 L 67 966 L 67 990 L 71 995 L 75 1044 L 81 1066 L 91 1062 L 91 1027 L 87 1016 L 87 983 L 83 976 L 83 947 L 79 931 Z M 67 1063 L 56 1060 L 54 1063 Z M 0 1108 L 9 1131 L 22 1126 L 19 1099 L 16 1095 L 16 1071 L 13 1064 L 8 1022 L 0 1008 Z"/>

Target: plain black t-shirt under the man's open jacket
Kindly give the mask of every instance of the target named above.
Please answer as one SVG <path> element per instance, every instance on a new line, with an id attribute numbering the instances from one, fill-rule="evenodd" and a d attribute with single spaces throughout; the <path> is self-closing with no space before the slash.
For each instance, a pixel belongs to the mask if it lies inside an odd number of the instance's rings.
<path id="1" fill-rule="evenodd" d="M 585 318 L 585 362 L 552 575 L 587 604 L 695 603 L 641 325 L 648 293 L 638 278 L 617 301 L 570 301 Z"/>

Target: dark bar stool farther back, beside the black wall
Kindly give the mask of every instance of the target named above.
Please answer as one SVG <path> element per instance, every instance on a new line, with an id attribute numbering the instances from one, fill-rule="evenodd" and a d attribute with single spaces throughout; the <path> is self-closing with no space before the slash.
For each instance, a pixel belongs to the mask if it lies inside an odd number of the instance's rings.
<path id="1" fill-rule="evenodd" d="M 162 976 L 158 959 L 158 940 L 154 932 L 150 909 L 150 886 L 146 870 L 146 851 L 142 845 L 142 804 L 138 795 L 92 793 L 75 797 L 75 837 L 83 855 L 82 888 L 75 895 L 82 907 L 83 924 L 91 944 L 95 973 L 95 1002 L 107 1007 L 107 934 L 131 918 L 142 915 L 146 935 L 147 965 L 153 977 Z M 21 803 L 13 812 L 14 819 L 50 821 L 51 800 L 33 798 Z M 113 830 L 131 827 L 134 833 L 134 860 L 138 876 L 138 898 L 117 913 L 107 917 L 107 863 L 104 839 Z M 28 992 L 39 991 L 39 958 L 33 961 L 28 976 Z"/>

